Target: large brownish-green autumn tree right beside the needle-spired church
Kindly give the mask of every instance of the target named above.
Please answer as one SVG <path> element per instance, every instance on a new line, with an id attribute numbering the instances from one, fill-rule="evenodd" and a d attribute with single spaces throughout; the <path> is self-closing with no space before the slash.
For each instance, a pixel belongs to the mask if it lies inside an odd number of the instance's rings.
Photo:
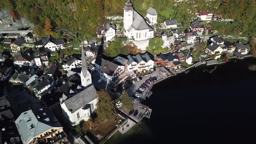
<path id="1" fill-rule="evenodd" d="M 110 95 L 106 91 L 98 91 L 97 115 L 100 118 L 108 119 L 111 117 L 115 106 Z"/>

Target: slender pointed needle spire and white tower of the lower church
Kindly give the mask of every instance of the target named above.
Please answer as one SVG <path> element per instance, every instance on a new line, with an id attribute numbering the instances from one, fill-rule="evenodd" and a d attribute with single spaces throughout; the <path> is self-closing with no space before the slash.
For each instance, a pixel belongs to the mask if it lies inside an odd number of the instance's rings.
<path id="1" fill-rule="evenodd" d="M 92 84 L 92 76 L 91 76 L 90 72 L 87 70 L 88 69 L 87 68 L 87 61 L 85 59 L 85 52 L 84 52 L 83 45 L 82 45 L 81 60 L 82 60 L 82 70 L 81 70 L 81 73 L 80 73 L 81 85 L 83 87 L 87 87 L 87 86 Z"/>

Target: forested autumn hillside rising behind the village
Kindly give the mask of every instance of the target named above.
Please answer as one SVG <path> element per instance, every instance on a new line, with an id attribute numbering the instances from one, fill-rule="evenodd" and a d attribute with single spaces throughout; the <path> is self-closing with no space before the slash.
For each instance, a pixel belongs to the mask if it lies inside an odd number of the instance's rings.
<path id="1" fill-rule="evenodd" d="M 7 8 L 13 17 L 27 17 L 39 36 L 43 32 L 46 18 L 51 20 L 53 27 L 68 29 L 79 37 L 92 37 L 96 26 L 105 22 L 105 16 L 123 14 L 122 7 L 127 0 L 0 0 L 0 8 Z M 184 27 L 195 18 L 200 10 L 210 10 L 222 14 L 224 19 L 233 19 L 232 25 L 212 24 L 222 29 L 223 33 L 233 35 L 256 35 L 256 2 L 255 0 L 188 0 L 187 2 L 174 2 L 174 0 L 131 0 L 135 10 L 142 15 L 146 14 L 148 7 L 158 12 L 158 22 L 165 19 L 176 18 Z M 225 26 L 227 29 L 225 31 Z"/>

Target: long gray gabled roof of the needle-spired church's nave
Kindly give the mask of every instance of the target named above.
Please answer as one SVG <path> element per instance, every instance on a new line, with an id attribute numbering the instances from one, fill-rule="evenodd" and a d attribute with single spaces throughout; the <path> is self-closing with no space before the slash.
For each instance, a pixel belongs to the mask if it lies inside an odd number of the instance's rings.
<path id="1" fill-rule="evenodd" d="M 96 89 L 93 85 L 91 85 L 90 87 L 84 89 L 82 92 L 79 92 L 78 94 L 64 101 L 64 104 L 68 110 L 73 113 L 97 97 Z"/>

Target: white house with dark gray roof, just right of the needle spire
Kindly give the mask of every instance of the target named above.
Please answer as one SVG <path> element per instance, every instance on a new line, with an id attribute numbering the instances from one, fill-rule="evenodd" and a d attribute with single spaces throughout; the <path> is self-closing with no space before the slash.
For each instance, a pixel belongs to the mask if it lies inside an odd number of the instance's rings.
<path id="1" fill-rule="evenodd" d="M 124 72 L 124 66 L 118 65 L 115 62 L 102 59 L 100 69 L 100 79 L 105 82 L 111 82 L 113 79 L 121 75 Z"/>

